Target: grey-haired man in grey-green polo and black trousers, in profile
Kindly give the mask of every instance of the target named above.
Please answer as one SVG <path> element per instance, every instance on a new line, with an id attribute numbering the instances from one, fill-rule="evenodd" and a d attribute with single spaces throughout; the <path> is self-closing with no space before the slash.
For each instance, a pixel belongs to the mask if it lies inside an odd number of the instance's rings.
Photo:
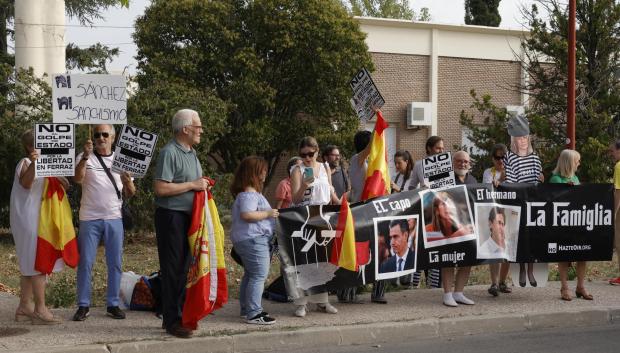
<path id="1" fill-rule="evenodd" d="M 200 161 L 192 146 L 200 143 L 202 123 L 198 113 L 182 109 L 172 118 L 174 138 L 159 152 L 155 189 L 155 232 L 162 280 L 163 328 L 188 338 L 192 331 L 181 324 L 190 254 L 187 233 L 194 192 L 206 190 Z"/>

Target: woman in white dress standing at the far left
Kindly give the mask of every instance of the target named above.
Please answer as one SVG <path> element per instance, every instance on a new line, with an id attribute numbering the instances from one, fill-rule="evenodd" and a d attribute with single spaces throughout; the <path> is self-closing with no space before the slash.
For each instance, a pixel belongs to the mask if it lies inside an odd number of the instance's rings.
<path id="1" fill-rule="evenodd" d="M 45 305 L 45 274 L 34 269 L 37 252 L 37 233 L 41 195 L 44 178 L 35 178 L 35 163 L 38 153 L 34 149 L 34 134 L 27 130 L 22 134 L 22 144 L 28 157 L 23 158 L 15 169 L 15 179 L 11 189 L 11 233 L 19 262 L 21 278 L 19 306 L 15 311 L 15 321 L 31 321 L 38 325 L 59 324 L 60 319 L 52 315 Z M 58 178 L 66 189 L 69 182 Z M 64 262 L 59 259 L 54 272 L 62 270 Z M 34 299 L 34 303 L 33 303 Z"/>

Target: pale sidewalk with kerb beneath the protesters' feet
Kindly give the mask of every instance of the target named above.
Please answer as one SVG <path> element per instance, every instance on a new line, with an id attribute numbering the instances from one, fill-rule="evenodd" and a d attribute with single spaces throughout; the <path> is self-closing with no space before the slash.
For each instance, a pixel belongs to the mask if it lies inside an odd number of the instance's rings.
<path id="1" fill-rule="evenodd" d="M 84 322 L 73 322 L 74 308 L 54 310 L 65 322 L 57 326 L 16 323 L 18 299 L 0 293 L 0 352 L 256 352 L 327 345 L 372 344 L 391 339 L 432 338 L 490 332 L 535 330 L 550 327 L 618 325 L 620 287 L 598 281 L 587 283 L 593 301 L 560 300 L 559 282 L 546 288 L 514 288 L 497 298 L 487 286 L 470 286 L 465 294 L 476 305 L 448 308 L 440 289 L 387 293 L 387 305 L 338 304 L 337 315 L 311 310 L 305 318 L 292 315 L 292 304 L 264 302 L 277 318 L 273 326 L 245 324 L 238 302 L 206 317 L 191 339 L 164 333 L 152 313 L 127 312 L 126 320 L 105 316 L 105 308 L 91 308 Z M 574 288 L 574 283 L 571 284 Z M 573 292 L 574 295 L 574 292 Z"/>

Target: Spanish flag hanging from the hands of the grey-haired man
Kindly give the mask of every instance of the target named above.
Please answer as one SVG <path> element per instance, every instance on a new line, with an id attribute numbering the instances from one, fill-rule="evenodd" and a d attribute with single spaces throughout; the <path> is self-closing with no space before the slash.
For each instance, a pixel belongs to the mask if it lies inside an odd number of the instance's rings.
<path id="1" fill-rule="evenodd" d="M 191 262 L 187 273 L 183 326 L 195 330 L 198 321 L 228 301 L 224 228 L 210 191 L 194 193 L 188 241 Z"/>

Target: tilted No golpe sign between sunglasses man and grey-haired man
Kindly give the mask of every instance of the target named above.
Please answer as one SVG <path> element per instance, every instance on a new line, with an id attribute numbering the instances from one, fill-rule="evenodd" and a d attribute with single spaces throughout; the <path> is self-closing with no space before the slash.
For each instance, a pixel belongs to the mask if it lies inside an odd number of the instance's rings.
<path id="1" fill-rule="evenodd" d="M 116 141 L 112 171 L 129 172 L 142 178 L 151 163 L 157 145 L 157 135 L 130 125 L 123 126 Z"/>

